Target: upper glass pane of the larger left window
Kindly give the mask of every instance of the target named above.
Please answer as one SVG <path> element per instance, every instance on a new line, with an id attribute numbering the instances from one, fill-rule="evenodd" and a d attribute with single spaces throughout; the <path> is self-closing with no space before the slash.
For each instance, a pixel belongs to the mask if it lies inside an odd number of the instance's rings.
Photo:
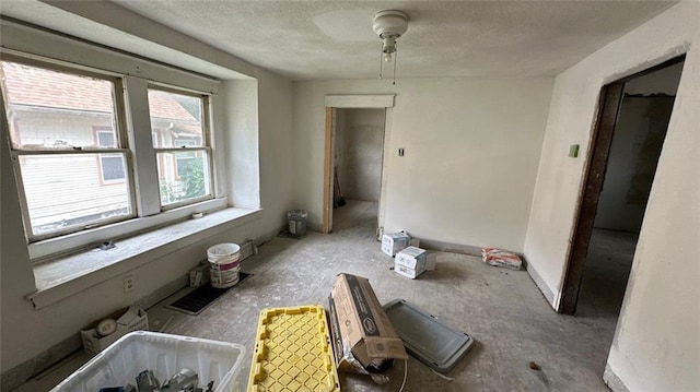
<path id="1" fill-rule="evenodd" d="M 1 64 L 14 149 L 96 147 L 94 129 L 113 129 L 112 82 L 9 61 Z M 116 139 L 110 146 L 116 146 Z"/>

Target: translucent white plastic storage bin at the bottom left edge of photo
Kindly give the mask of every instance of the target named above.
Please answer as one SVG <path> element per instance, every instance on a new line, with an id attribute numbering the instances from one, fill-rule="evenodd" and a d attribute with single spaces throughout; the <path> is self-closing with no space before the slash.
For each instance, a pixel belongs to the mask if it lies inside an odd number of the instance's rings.
<path id="1" fill-rule="evenodd" d="M 238 373 L 245 357 L 240 344 L 156 332 L 131 332 L 51 391 L 96 392 L 101 388 L 136 387 L 136 377 L 153 370 L 161 384 L 183 368 L 199 375 L 200 385 L 214 381 L 215 392 L 240 391 Z"/>

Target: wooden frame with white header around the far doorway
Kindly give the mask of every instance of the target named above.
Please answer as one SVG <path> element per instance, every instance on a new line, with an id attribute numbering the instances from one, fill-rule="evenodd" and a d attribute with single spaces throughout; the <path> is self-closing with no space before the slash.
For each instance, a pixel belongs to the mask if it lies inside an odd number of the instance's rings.
<path id="1" fill-rule="evenodd" d="M 323 216 L 322 216 L 322 233 L 328 234 L 332 230 L 332 223 L 330 219 L 332 213 L 332 116 L 335 109 L 390 109 L 394 107 L 394 94 L 384 95 L 326 95 L 326 119 L 324 131 L 324 201 L 323 201 Z M 380 210 L 382 210 L 382 200 L 384 192 L 386 191 L 386 152 L 387 152 L 387 134 L 390 132 L 389 110 L 385 110 L 384 119 L 384 156 L 382 159 L 382 185 L 380 194 Z M 380 216 L 383 212 L 380 211 Z"/>

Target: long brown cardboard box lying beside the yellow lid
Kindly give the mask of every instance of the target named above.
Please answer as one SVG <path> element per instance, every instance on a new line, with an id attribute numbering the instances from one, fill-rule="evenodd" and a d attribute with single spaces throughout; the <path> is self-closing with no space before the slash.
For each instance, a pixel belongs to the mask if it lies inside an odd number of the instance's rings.
<path id="1" fill-rule="evenodd" d="M 395 358 L 408 358 L 404 342 L 365 277 L 339 274 L 328 302 L 338 370 L 381 371 Z"/>

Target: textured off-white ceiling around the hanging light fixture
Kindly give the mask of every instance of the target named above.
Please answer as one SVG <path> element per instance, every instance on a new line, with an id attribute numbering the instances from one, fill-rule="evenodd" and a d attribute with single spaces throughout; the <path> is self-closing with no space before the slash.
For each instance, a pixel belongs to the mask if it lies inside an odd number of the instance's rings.
<path id="1" fill-rule="evenodd" d="M 11 0 L 2 1 L 8 4 Z M 555 75 L 675 3 L 630 0 L 113 2 L 293 80 L 376 78 L 381 41 L 372 32 L 372 16 L 380 10 L 401 10 L 410 19 L 408 32 L 398 44 L 398 78 L 521 78 Z M 14 7 L 12 13 L 22 19 L 22 7 Z M 54 19 L 51 23 L 52 28 L 63 31 L 60 20 Z M 88 34 L 82 36 L 90 38 Z"/>

